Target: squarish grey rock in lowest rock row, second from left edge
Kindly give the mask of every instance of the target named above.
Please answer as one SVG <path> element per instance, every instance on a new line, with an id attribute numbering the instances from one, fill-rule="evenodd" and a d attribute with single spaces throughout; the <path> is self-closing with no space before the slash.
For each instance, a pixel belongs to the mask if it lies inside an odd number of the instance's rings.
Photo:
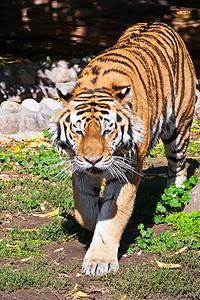
<path id="1" fill-rule="evenodd" d="M 43 113 L 33 113 L 24 116 L 23 129 L 31 131 L 43 131 L 48 128 L 49 116 Z"/>

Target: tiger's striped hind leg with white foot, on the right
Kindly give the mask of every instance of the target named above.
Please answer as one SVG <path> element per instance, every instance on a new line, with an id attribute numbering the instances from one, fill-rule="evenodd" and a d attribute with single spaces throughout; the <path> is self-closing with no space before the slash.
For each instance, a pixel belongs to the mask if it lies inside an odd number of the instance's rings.
<path id="1" fill-rule="evenodd" d="M 183 181 L 187 179 L 186 151 L 189 144 L 192 119 L 180 123 L 182 124 L 179 124 L 177 127 L 171 123 L 171 128 L 168 127 L 168 130 L 162 136 L 168 160 L 167 187 L 169 187 L 172 182 L 174 182 L 176 186 L 182 186 Z"/>

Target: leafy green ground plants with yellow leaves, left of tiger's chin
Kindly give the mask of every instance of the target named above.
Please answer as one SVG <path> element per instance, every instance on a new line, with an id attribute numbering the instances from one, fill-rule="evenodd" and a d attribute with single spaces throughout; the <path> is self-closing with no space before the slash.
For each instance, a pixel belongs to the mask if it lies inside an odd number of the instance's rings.
<path id="1" fill-rule="evenodd" d="M 53 146 L 47 147 L 40 144 L 38 149 L 33 149 L 26 144 L 21 144 L 20 146 L 11 146 L 7 150 L 0 149 L 1 172 L 32 174 L 54 181 L 58 181 L 61 177 L 70 184 L 69 166 L 69 158 L 62 158 Z"/>

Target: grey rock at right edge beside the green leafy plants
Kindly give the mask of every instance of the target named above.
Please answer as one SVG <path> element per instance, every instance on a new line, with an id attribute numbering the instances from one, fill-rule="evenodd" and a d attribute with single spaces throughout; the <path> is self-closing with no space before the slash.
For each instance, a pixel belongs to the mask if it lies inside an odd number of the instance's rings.
<path id="1" fill-rule="evenodd" d="M 194 210 L 197 212 L 200 210 L 200 180 L 196 186 L 190 191 L 191 200 L 186 205 L 184 212 L 191 214 Z"/>

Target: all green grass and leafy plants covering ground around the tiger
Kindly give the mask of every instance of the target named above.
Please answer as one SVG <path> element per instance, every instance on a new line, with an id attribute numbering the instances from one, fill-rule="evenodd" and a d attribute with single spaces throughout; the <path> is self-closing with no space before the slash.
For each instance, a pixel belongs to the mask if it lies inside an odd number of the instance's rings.
<path id="1" fill-rule="evenodd" d="M 199 134 L 199 128 L 199 123 L 194 123 L 193 133 Z M 64 176 L 65 180 L 59 178 L 63 176 L 64 169 L 68 168 L 68 159 L 63 164 L 63 159 L 48 141 L 48 132 L 45 132 L 45 139 L 40 136 L 31 141 L 13 141 L 9 146 L 2 144 L 0 149 L 0 212 L 12 215 L 21 212 L 26 216 L 38 212 L 46 214 L 46 211 L 59 208 L 59 215 L 48 219 L 43 225 L 31 229 L 13 226 L 9 230 L 1 230 L 1 291 L 47 286 L 69 291 L 74 282 L 68 276 L 77 266 L 70 266 L 70 262 L 69 266 L 57 266 L 55 261 L 41 256 L 41 247 L 53 241 L 63 243 L 75 238 L 89 240 L 89 233 L 81 229 L 73 217 L 71 173 Z M 197 135 L 197 139 L 190 142 L 188 149 L 188 154 L 195 159 L 199 157 L 198 141 Z M 150 158 L 163 159 L 163 153 L 164 146 L 159 143 L 151 151 Z M 6 176 L 9 176 L 9 180 L 5 180 Z M 130 238 L 132 242 L 127 252 L 136 255 L 142 250 L 143 253 L 153 254 L 159 261 L 179 263 L 182 267 L 162 269 L 154 260 L 137 266 L 126 265 L 117 274 L 99 278 L 109 289 L 108 299 L 200 297 L 200 215 L 182 212 L 189 201 L 189 190 L 196 180 L 196 177 L 192 177 L 185 182 L 184 188 L 172 185 L 168 190 L 164 190 L 165 180 L 161 180 L 158 185 L 156 181 L 154 184 L 154 181 L 145 179 L 141 184 L 136 201 L 140 223 L 138 234 Z M 42 206 L 44 212 L 41 212 Z M 157 224 L 166 223 L 171 228 L 156 235 L 146 225 L 149 220 Z M 5 224 L 3 218 L 0 218 L 0 224 Z M 181 255 L 170 256 L 183 247 L 187 247 L 187 251 Z M 23 266 L 17 266 L 16 269 L 16 262 L 23 258 Z M 84 288 L 84 283 L 82 287 Z"/>

